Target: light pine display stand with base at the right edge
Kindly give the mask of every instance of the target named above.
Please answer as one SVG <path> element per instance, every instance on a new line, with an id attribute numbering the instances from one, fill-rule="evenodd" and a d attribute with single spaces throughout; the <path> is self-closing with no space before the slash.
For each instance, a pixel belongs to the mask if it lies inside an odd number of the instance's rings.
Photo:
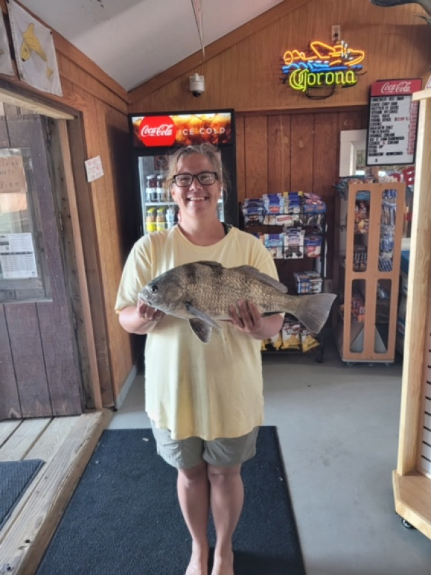
<path id="1" fill-rule="evenodd" d="M 406 307 L 395 510 L 431 539 L 431 89 L 419 125 Z"/>

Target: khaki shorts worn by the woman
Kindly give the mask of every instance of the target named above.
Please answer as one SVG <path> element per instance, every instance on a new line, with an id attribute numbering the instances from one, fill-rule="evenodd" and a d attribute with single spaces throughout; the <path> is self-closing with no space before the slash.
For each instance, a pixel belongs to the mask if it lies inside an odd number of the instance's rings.
<path id="1" fill-rule="evenodd" d="M 189 469 L 202 460 L 215 467 L 233 467 L 253 458 L 259 427 L 245 436 L 205 441 L 198 437 L 172 439 L 169 429 L 159 429 L 151 422 L 157 453 L 176 469 Z"/>

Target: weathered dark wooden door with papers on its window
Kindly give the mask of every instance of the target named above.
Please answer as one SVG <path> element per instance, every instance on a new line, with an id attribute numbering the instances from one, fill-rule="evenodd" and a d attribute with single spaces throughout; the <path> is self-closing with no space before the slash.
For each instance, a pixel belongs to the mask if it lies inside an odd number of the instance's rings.
<path id="1" fill-rule="evenodd" d="M 0 419 L 83 410 L 46 134 L 0 117 Z"/>

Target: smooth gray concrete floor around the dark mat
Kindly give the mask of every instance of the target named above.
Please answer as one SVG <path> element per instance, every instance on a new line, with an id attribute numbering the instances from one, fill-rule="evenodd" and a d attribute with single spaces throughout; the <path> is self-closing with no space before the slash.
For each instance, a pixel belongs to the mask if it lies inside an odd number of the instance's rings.
<path id="1" fill-rule="evenodd" d="M 307 575 L 431 575 L 431 541 L 393 504 L 401 371 L 399 357 L 347 367 L 330 337 L 323 363 L 264 358 L 265 424 L 278 428 Z M 137 376 L 110 429 L 148 427 L 143 403 Z"/>

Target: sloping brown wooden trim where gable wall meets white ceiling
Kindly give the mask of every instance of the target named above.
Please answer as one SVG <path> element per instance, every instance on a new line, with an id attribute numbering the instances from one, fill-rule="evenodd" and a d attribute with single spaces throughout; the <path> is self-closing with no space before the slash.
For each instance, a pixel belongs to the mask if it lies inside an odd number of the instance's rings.
<path id="1" fill-rule="evenodd" d="M 176 78 L 180 78 L 180 76 L 183 76 L 183 74 L 186 74 L 196 66 L 200 66 L 205 62 L 208 62 L 208 60 L 211 60 L 211 58 L 215 58 L 215 56 L 218 56 L 238 42 L 252 36 L 255 32 L 270 26 L 278 19 L 283 18 L 283 16 L 286 16 L 295 10 L 299 10 L 299 8 L 302 8 L 310 1 L 312 0 L 289 0 L 277 4 L 274 8 L 270 8 L 270 10 L 264 12 L 264 14 L 253 18 L 253 20 L 206 46 L 205 58 L 202 58 L 202 50 L 198 50 L 198 52 L 191 54 L 188 58 L 185 58 L 181 62 L 161 72 L 158 76 L 155 76 L 151 80 L 148 80 L 148 82 L 145 82 L 144 84 L 141 84 L 141 86 L 130 91 L 128 93 L 129 104 L 139 102 L 142 98 L 145 98 L 156 90 L 161 89 L 166 84 L 176 80 Z"/>

